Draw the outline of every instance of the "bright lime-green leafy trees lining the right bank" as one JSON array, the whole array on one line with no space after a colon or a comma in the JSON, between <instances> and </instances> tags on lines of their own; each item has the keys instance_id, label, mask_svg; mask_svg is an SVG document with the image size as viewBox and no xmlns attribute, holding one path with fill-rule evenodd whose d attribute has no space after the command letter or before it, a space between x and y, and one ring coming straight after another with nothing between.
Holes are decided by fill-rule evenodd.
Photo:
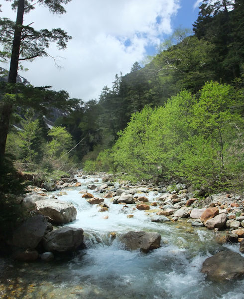
<instances>
[{"instance_id":1,"label":"bright lime-green leafy trees lining the right bank","mask_svg":"<svg viewBox=\"0 0 244 299\"><path fill-rule=\"evenodd\" d=\"M102 152L93 167L98 170L98 162L106 160L107 169L114 165L136 179L173 174L197 187L237 186L244 166L237 103L231 86L209 82L198 100L184 90L164 107L146 106L132 115L111 153Z\"/></svg>"}]
</instances>

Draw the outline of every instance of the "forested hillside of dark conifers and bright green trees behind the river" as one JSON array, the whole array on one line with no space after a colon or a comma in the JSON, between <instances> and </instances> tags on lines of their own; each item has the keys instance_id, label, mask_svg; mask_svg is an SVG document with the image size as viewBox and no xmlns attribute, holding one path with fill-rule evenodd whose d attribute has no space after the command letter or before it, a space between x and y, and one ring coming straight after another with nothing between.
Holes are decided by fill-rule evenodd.
<instances>
[{"instance_id":1,"label":"forested hillside of dark conifers and bright green trees behind the river","mask_svg":"<svg viewBox=\"0 0 244 299\"><path fill-rule=\"evenodd\" d=\"M193 31L175 30L145 65L116 74L98 101L18 85L15 109L28 113L12 117L7 153L30 171L66 172L82 162L86 170L126 172L132 180L240 187L243 30L242 0L204 0ZM1 84L2 96L13 97ZM42 117L46 103L68 111L52 129Z\"/></svg>"}]
</instances>

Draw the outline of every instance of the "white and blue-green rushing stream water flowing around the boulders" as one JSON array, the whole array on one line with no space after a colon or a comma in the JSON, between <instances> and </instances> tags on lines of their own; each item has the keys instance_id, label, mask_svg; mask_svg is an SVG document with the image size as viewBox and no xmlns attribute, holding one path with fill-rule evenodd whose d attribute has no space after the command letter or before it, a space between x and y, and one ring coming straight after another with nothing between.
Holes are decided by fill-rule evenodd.
<instances>
[{"instance_id":1,"label":"white and blue-green rushing stream water flowing around the boulders","mask_svg":"<svg viewBox=\"0 0 244 299\"><path fill-rule=\"evenodd\" d=\"M212 231L186 221L151 222L148 211L112 204L111 198L105 199L109 211L98 212L79 193L93 180L79 178L81 187L59 197L76 206L77 220L68 225L84 229L87 249L51 263L1 261L0 299L244 299L244 280L213 283L200 272L207 257L220 250L239 252L238 245L218 245ZM146 196L154 201L158 195L151 191ZM161 247L148 254L123 250L119 236L131 230L159 232Z\"/></svg>"}]
</instances>

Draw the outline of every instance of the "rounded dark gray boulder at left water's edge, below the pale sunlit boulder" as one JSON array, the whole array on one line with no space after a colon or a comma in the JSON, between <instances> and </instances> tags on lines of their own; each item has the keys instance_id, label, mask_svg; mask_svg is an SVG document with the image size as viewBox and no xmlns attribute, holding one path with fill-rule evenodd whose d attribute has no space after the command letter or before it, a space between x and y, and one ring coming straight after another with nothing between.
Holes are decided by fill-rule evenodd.
<instances>
[{"instance_id":1,"label":"rounded dark gray boulder at left water's edge, below the pale sunlit boulder","mask_svg":"<svg viewBox=\"0 0 244 299\"><path fill-rule=\"evenodd\" d=\"M47 233L43 238L43 247L51 252L74 251L83 243L83 239L82 228L66 226Z\"/></svg>"}]
</instances>

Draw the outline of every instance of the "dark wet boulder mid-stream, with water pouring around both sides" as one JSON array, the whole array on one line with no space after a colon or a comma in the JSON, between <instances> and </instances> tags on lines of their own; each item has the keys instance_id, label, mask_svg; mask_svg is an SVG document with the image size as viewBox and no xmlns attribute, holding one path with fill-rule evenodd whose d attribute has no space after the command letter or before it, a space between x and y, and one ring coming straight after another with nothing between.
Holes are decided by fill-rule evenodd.
<instances>
[{"instance_id":1,"label":"dark wet boulder mid-stream, with water pouring around both sides","mask_svg":"<svg viewBox=\"0 0 244 299\"><path fill-rule=\"evenodd\" d=\"M154 232L128 232L121 238L127 250L140 249L144 253L159 248L160 241L161 235Z\"/></svg>"}]
</instances>

